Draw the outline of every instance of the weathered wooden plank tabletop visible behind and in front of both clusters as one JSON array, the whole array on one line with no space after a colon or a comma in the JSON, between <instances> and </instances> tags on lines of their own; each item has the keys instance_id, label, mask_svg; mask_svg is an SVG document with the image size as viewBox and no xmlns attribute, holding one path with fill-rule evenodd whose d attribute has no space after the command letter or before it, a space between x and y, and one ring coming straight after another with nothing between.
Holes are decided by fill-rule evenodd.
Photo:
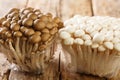
<instances>
[{"instance_id":1,"label":"weathered wooden plank tabletop visible behind and in front of both clusters","mask_svg":"<svg viewBox=\"0 0 120 80\"><path fill-rule=\"evenodd\" d=\"M27 0L0 0L0 7L4 7L0 8L0 16L3 16L4 13L12 7L25 7L26 2ZM38 8L44 13L51 12L54 16L61 17L63 21L69 19L75 14L83 16L107 15L120 17L120 0L29 0L27 7ZM0 58L3 58L3 56L0 55ZM4 60L6 60L6 58L0 59L0 73L4 73L8 69L8 65L2 66ZM45 74L51 74L47 79L44 75L36 76L12 70L9 75L9 80L14 80L15 78L17 78L17 80L28 80L28 78L29 80L106 80L104 78L90 75L67 72L65 69L66 66L64 66L67 61L65 61L64 55L61 55L61 58L59 59L59 52L56 53L56 58L54 61L55 65L53 66L52 64L51 68L48 70L48 73ZM5 62L4 64L6 63L8 64L8 62ZM61 69L59 70L58 68ZM8 74L4 76L4 80L7 80L7 75ZM51 77L53 75L56 76ZM110 80L120 80L119 76L120 74L118 74L116 78Z\"/></svg>"}]
</instances>

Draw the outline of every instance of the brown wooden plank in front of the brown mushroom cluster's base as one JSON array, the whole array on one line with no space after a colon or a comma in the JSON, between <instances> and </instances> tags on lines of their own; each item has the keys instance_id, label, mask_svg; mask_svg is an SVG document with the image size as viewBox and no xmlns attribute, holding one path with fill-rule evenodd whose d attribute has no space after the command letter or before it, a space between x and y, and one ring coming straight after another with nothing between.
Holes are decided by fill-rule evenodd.
<instances>
[{"instance_id":1,"label":"brown wooden plank in front of the brown mushroom cluster's base","mask_svg":"<svg viewBox=\"0 0 120 80\"><path fill-rule=\"evenodd\" d=\"M43 74L25 73L11 70L9 80L59 80L59 72L56 63L51 63Z\"/></svg>"}]
</instances>

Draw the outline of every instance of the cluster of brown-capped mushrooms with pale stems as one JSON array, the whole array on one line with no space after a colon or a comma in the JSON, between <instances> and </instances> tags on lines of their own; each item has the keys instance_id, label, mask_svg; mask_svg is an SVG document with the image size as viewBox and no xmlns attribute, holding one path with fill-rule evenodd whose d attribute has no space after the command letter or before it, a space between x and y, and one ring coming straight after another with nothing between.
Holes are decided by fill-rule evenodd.
<instances>
[{"instance_id":1,"label":"cluster of brown-capped mushrooms with pale stems","mask_svg":"<svg viewBox=\"0 0 120 80\"><path fill-rule=\"evenodd\" d=\"M53 18L51 13L43 14L39 9L31 7L13 8L0 19L0 43L2 47L13 53L8 54L12 56L11 60L15 59L15 63L23 67L23 64L27 65L29 62L25 62L25 59L36 58L37 53L39 53L37 56L43 55L41 52L47 54L46 49L51 46L61 27L63 23L60 18ZM35 56L31 56L32 54ZM48 56L50 55L47 54L47 58ZM32 64L33 70L38 68L34 65L35 62ZM29 67L31 67L30 64Z\"/></svg>"}]
</instances>

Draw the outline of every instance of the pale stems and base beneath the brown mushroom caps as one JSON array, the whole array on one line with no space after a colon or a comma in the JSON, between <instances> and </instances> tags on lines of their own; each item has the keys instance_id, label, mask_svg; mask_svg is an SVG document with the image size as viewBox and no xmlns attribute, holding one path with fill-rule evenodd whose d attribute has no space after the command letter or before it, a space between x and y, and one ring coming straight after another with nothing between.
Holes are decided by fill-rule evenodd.
<instances>
[{"instance_id":1,"label":"pale stems and base beneath the brown mushroom caps","mask_svg":"<svg viewBox=\"0 0 120 80\"><path fill-rule=\"evenodd\" d=\"M38 44L30 44L27 40L20 42L20 38L17 38L15 46L9 42L7 45L1 44L0 49L10 63L16 64L18 70L42 74L45 69L49 68L54 55L55 44L55 42L51 42L45 50L38 51Z\"/></svg>"}]
</instances>

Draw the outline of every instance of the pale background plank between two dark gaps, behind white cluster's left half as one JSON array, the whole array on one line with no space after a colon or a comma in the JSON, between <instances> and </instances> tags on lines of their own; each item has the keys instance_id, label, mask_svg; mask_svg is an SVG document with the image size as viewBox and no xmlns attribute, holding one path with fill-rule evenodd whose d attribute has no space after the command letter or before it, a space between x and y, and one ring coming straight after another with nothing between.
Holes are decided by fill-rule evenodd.
<instances>
[{"instance_id":1,"label":"pale background plank between two dark gaps, behind white cluster's left half","mask_svg":"<svg viewBox=\"0 0 120 80\"><path fill-rule=\"evenodd\" d=\"M92 15L91 0L60 0L62 19L66 20L75 14Z\"/></svg>"}]
</instances>

